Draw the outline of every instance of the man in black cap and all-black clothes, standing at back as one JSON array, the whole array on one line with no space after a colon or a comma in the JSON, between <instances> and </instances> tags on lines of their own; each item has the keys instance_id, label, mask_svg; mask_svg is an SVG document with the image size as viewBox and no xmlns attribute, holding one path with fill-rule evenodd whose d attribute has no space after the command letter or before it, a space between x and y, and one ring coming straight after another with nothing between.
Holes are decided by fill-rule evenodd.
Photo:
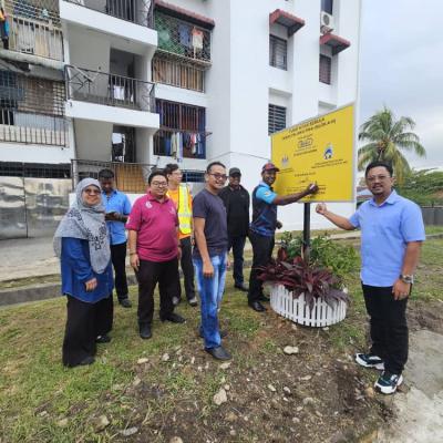
<instances>
[{"instance_id":1,"label":"man in black cap and all-black clothes, standing at back","mask_svg":"<svg viewBox=\"0 0 443 443\"><path fill-rule=\"evenodd\" d=\"M249 193L240 185L241 172L238 167L229 169L229 184L218 196L223 199L227 213L228 250L234 254L234 287L247 292L243 277L243 251L249 230Z\"/></svg>"}]
</instances>

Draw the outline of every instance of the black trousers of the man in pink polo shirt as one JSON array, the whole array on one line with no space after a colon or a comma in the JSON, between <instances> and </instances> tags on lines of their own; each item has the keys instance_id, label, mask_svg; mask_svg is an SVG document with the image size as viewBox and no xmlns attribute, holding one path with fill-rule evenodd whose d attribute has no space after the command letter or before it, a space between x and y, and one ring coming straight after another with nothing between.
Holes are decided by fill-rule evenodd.
<instances>
[{"instance_id":1,"label":"black trousers of the man in pink polo shirt","mask_svg":"<svg viewBox=\"0 0 443 443\"><path fill-rule=\"evenodd\" d=\"M154 316L154 290L158 282L159 318L165 319L174 310L173 297L177 290L178 260L140 260L136 272L138 280L138 324L151 324Z\"/></svg>"}]
</instances>

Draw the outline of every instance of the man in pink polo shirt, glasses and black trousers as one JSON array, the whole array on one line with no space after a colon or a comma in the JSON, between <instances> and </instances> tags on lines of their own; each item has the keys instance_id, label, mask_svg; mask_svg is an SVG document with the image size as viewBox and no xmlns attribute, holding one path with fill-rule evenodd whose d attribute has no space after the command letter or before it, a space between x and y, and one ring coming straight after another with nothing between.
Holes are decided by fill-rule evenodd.
<instances>
[{"instance_id":1,"label":"man in pink polo shirt, glasses and black trousers","mask_svg":"<svg viewBox=\"0 0 443 443\"><path fill-rule=\"evenodd\" d=\"M166 196L167 178L155 171L147 179L148 192L135 200L126 224L131 266L138 280L138 328L142 339L152 337L154 289L158 282L159 318L183 323L174 313L173 297L177 296L178 217L174 202Z\"/></svg>"}]
</instances>

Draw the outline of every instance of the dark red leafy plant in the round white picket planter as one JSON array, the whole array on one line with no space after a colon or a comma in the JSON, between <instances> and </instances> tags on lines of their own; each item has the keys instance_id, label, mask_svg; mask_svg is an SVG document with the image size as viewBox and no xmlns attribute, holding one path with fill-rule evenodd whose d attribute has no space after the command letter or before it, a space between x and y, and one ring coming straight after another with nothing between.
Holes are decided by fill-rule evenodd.
<instances>
[{"instance_id":1,"label":"dark red leafy plant in the round white picket planter","mask_svg":"<svg viewBox=\"0 0 443 443\"><path fill-rule=\"evenodd\" d=\"M340 300L349 303L348 295L340 289L340 279L329 269L309 265L301 257L288 260L282 248L278 250L277 260L257 269L261 281L285 286L293 298L305 295L305 301L311 310L316 299L327 302L331 308Z\"/></svg>"}]
</instances>

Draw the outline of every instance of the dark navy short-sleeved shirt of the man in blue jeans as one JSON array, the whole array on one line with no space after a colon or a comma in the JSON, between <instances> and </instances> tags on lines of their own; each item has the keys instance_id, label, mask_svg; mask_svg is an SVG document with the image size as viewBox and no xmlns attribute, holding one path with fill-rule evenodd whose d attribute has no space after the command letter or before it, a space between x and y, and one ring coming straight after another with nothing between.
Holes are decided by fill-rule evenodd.
<instances>
[{"instance_id":1,"label":"dark navy short-sleeved shirt of the man in blue jeans","mask_svg":"<svg viewBox=\"0 0 443 443\"><path fill-rule=\"evenodd\" d=\"M226 208L218 195L203 189L194 197L193 216L205 219L205 238L209 257L225 254L228 249ZM194 257L200 257L197 245Z\"/></svg>"}]
</instances>

